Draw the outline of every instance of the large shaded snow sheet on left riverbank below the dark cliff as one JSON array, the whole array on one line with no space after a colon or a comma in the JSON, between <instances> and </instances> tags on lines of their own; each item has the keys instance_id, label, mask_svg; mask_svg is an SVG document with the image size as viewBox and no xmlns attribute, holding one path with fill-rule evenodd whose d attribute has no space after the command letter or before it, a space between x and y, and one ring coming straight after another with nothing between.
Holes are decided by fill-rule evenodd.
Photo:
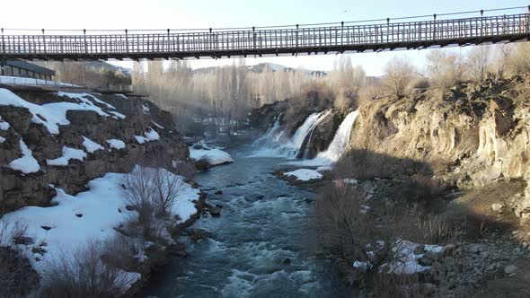
<instances>
[{"instance_id":1,"label":"large shaded snow sheet on left riverbank below the dark cliff","mask_svg":"<svg viewBox=\"0 0 530 298\"><path fill-rule=\"evenodd\" d=\"M138 167L134 171L138 171ZM162 170L164 174L173 175ZM42 249L46 253L32 252L34 245L19 245L28 256L31 266L42 275L53 259L73 255L83 248L87 241L109 241L117 235L114 230L120 223L127 222L135 211L128 211L127 199L124 197L121 183L130 174L107 173L102 178L88 182L88 191L70 196L60 188L56 188L57 196L52 199L57 206L39 207L26 206L8 213L0 220L0 231L11 234L14 223L27 224L25 236L31 237L34 243L46 242ZM174 215L185 221L197 213L193 200L199 199L199 189L191 188L181 181L179 197L172 206ZM79 216L81 215L81 216ZM49 227L47 231L42 227ZM10 245L4 239L0 245ZM41 259L37 261L36 258ZM123 272L127 280L136 281L140 276L134 272ZM131 283L132 283L131 282Z\"/></svg>"}]
</instances>

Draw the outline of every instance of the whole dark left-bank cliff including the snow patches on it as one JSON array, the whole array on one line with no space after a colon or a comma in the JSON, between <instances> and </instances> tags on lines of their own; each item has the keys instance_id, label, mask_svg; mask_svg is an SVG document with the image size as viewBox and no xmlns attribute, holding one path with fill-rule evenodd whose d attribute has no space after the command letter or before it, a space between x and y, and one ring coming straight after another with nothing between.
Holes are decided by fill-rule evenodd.
<instances>
[{"instance_id":1,"label":"whole dark left-bank cliff including the snow patches on it","mask_svg":"<svg viewBox=\"0 0 530 298\"><path fill-rule=\"evenodd\" d=\"M136 163L171 168L189 158L171 115L121 94L0 89L0 214L48 206Z\"/></svg>"}]
</instances>

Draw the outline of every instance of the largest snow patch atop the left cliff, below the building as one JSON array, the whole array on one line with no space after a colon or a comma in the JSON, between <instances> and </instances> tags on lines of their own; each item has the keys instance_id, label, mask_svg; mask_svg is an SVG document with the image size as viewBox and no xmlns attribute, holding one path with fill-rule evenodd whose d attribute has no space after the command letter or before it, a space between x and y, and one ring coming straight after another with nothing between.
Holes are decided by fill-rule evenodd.
<instances>
[{"instance_id":1,"label":"largest snow patch atop the left cliff, below the building","mask_svg":"<svg viewBox=\"0 0 530 298\"><path fill-rule=\"evenodd\" d=\"M63 95L64 94L66 93L63 93ZM49 133L53 135L57 135L59 133L59 125L70 124L70 121L66 119L66 112L68 110L94 111L98 113L98 115L103 117L110 116L109 114L103 112L102 108L95 106L92 101L85 99L83 96L75 96L73 98L77 99L80 102L52 102L43 105L38 105L28 101L24 101L22 100L22 98L20 98L13 92L4 88L0 88L0 105L27 108L33 115L31 121L44 125L46 128L48 128Z\"/></svg>"}]
</instances>

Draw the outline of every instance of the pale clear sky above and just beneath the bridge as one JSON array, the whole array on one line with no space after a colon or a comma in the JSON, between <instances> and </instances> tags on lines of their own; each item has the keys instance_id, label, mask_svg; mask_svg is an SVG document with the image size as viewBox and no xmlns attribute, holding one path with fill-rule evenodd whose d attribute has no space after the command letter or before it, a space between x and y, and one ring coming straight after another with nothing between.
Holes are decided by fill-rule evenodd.
<instances>
[{"instance_id":1,"label":"pale clear sky above and just beneath the bridge","mask_svg":"<svg viewBox=\"0 0 530 298\"><path fill-rule=\"evenodd\" d=\"M530 0L2 0L0 27L13 29L181 29L252 27L267 25L341 22L432 13L526 6ZM23 12L23 13L22 13ZM526 10L508 11L521 13ZM490 13L491 14L491 13ZM23 15L23 17L21 17ZM479 13L473 14L478 16ZM7 34L9 31L5 31ZM465 51L466 48L453 48ZM382 53L342 54L369 75L380 75L396 56L406 56L422 66L429 49ZM331 70L336 55L247 58L247 65L272 62L311 70ZM110 61L112 62L112 61ZM131 62L112 62L120 66ZM192 68L223 66L233 59L191 60Z\"/></svg>"}]
</instances>

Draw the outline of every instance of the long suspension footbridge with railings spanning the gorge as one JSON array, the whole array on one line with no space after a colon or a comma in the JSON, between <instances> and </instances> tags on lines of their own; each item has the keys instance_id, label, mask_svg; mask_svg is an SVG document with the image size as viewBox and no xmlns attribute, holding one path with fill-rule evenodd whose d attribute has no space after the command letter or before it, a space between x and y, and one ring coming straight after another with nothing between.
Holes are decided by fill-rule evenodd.
<instances>
[{"instance_id":1,"label":"long suspension footbridge with railings spanning the gorge","mask_svg":"<svg viewBox=\"0 0 530 298\"><path fill-rule=\"evenodd\" d=\"M530 12L530 6L528 7ZM370 24L296 25L245 30L149 31L93 35L2 35L0 57L98 60L247 57L430 48L530 40L530 13Z\"/></svg>"}]
</instances>

